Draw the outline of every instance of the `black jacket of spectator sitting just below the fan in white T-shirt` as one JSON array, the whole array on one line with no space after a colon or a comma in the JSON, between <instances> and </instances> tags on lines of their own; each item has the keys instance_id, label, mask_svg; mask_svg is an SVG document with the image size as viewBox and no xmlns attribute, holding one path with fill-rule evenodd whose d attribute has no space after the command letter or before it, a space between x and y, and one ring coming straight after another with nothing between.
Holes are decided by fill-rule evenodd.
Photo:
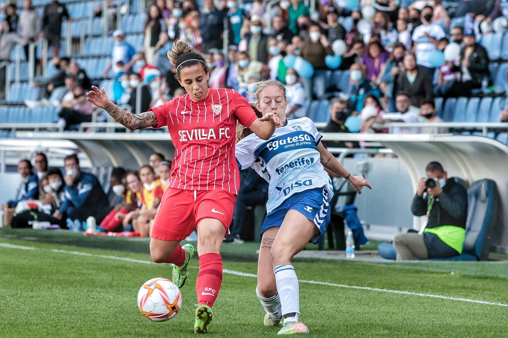
<instances>
[{"instance_id":1,"label":"black jacket of spectator sitting just below the fan in white T-shirt","mask_svg":"<svg viewBox=\"0 0 508 338\"><path fill-rule=\"evenodd\" d=\"M411 99L411 104L420 107L424 99L431 100L432 94L432 79L429 73L421 66L417 66L418 73L415 82L412 84L407 80L406 72L399 72L397 74L397 92L405 92Z\"/></svg>"}]
</instances>

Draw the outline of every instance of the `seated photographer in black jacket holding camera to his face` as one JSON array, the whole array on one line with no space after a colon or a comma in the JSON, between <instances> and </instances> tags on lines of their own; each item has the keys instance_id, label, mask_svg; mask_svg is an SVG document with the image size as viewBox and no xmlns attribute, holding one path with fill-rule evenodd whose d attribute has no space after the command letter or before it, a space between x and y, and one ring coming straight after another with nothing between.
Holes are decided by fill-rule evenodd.
<instances>
[{"instance_id":1,"label":"seated photographer in black jacket holding camera to his face","mask_svg":"<svg viewBox=\"0 0 508 338\"><path fill-rule=\"evenodd\" d=\"M439 162L430 162L411 205L415 216L426 215L420 233L399 234L393 244L397 260L447 258L462 253L466 235L467 192ZM425 194L426 193L426 194Z\"/></svg>"}]
</instances>

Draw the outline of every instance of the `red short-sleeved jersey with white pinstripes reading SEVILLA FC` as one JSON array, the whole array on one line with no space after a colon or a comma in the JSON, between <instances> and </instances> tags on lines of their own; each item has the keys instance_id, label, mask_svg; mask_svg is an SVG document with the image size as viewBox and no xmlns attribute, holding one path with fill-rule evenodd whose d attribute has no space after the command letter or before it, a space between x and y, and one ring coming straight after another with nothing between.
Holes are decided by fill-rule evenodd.
<instances>
[{"instance_id":1,"label":"red short-sleeved jersey with white pinstripes reading SEVILLA FC","mask_svg":"<svg viewBox=\"0 0 508 338\"><path fill-rule=\"evenodd\" d=\"M233 89L210 89L201 102L185 94L150 110L157 118L156 128L168 126L176 148L169 187L238 195L236 122L248 127L257 119L243 96Z\"/></svg>"}]
</instances>

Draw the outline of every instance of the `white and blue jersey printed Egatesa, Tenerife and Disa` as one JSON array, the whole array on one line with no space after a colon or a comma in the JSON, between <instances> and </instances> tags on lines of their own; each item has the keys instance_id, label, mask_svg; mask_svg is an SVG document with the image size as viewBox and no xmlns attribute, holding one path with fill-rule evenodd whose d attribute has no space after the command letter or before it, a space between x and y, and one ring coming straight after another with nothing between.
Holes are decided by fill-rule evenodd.
<instances>
[{"instance_id":1,"label":"white and blue jersey printed Egatesa, Tenerife and Disa","mask_svg":"<svg viewBox=\"0 0 508 338\"><path fill-rule=\"evenodd\" d=\"M309 118L288 121L268 140L250 134L236 144L240 169L252 167L268 181L267 211L295 193L326 186L333 194L330 176L323 168L316 144L321 140Z\"/></svg>"}]
</instances>

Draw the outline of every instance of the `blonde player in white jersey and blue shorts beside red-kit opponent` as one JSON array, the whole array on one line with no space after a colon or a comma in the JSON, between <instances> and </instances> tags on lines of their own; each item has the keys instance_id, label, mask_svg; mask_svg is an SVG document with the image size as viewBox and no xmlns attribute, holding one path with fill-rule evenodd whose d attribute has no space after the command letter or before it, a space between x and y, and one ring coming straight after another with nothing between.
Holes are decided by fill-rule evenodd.
<instances>
[{"instance_id":1,"label":"blonde player in white jersey and blue shorts beside red-kit opponent","mask_svg":"<svg viewBox=\"0 0 508 338\"><path fill-rule=\"evenodd\" d=\"M359 194L361 186L372 188L327 151L309 118L287 121L288 101L280 82L268 80L257 85L255 107L262 115L276 115L281 125L268 141L250 134L238 141L235 150L240 169L251 166L270 183L256 293L266 311L265 325L278 326L284 317L278 334L308 333L298 319L299 286L291 259L309 241L317 243L330 221L333 187L324 167L349 180ZM248 133L243 129L238 138Z\"/></svg>"}]
</instances>

